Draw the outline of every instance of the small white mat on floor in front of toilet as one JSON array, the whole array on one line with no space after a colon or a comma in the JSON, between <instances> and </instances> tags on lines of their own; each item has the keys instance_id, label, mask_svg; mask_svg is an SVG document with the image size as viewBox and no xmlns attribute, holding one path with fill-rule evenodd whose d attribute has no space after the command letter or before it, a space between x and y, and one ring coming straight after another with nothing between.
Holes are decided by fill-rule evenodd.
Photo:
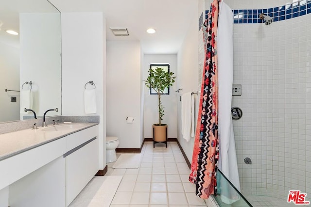
<instances>
[{"instance_id":1,"label":"small white mat on floor in front of toilet","mask_svg":"<svg viewBox=\"0 0 311 207\"><path fill-rule=\"evenodd\" d=\"M112 168L138 168L140 154L121 154Z\"/></svg>"}]
</instances>

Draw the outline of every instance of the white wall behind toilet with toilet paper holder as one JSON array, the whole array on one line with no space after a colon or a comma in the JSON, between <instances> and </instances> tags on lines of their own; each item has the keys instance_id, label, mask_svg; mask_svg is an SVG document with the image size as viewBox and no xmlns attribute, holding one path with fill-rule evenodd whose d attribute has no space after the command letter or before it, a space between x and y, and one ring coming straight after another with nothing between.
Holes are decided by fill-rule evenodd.
<instances>
[{"instance_id":1,"label":"white wall behind toilet with toilet paper holder","mask_svg":"<svg viewBox=\"0 0 311 207\"><path fill-rule=\"evenodd\" d=\"M138 41L107 42L107 136L119 138L118 148L141 145L140 73ZM127 124L128 116L133 124Z\"/></svg>"}]
</instances>

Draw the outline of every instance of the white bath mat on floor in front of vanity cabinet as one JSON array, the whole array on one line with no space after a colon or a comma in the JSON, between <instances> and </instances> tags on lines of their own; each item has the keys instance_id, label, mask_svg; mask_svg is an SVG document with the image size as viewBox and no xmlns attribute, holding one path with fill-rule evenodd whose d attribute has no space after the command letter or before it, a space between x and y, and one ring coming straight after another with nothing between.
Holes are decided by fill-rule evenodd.
<instances>
[{"instance_id":1,"label":"white bath mat on floor in front of vanity cabinet","mask_svg":"<svg viewBox=\"0 0 311 207\"><path fill-rule=\"evenodd\" d=\"M121 175L94 177L69 207L109 207L121 179Z\"/></svg>"}]
</instances>

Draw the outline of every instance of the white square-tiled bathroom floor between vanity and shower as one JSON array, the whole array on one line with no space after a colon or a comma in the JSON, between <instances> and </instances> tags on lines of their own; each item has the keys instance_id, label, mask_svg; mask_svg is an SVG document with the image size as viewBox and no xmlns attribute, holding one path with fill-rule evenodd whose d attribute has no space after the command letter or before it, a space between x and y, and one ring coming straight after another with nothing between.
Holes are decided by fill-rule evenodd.
<instances>
[{"instance_id":1,"label":"white square-tiled bathroom floor between vanity and shower","mask_svg":"<svg viewBox=\"0 0 311 207\"><path fill-rule=\"evenodd\" d=\"M120 156L120 153L117 153ZM145 142L138 169L113 169L109 175L123 175L110 207L202 207L195 187L188 181L190 170L175 142Z\"/></svg>"}]
</instances>

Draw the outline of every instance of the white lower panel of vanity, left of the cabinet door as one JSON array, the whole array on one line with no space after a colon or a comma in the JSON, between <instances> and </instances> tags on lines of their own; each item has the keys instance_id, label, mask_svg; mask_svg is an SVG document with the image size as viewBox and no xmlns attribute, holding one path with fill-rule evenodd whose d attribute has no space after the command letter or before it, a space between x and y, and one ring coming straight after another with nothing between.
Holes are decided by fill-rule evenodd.
<instances>
[{"instance_id":1,"label":"white lower panel of vanity, left of the cabinet door","mask_svg":"<svg viewBox=\"0 0 311 207\"><path fill-rule=\"evenodd\" d=\"M64 185L65 160L61 156L12 183L9 186L9 206L62 207L65 203Z\"/></svg>"}]
</instances>

